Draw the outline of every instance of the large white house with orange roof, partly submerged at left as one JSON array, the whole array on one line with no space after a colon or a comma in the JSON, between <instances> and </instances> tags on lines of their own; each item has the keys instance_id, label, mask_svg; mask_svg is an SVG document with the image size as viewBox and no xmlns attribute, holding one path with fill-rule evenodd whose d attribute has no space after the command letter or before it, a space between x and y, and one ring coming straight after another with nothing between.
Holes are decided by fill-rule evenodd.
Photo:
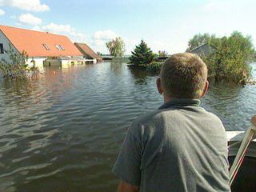
<instances>
[{"instance_id":1,"label":"large white house with orange roof, partly submerged at left","mask_svg":"<svg viewBox=\"0 0 256 192\"><path fill-rule=\"evenodd\" d=\"M25 51L27 64L38 67L86 62L82 53L64 35L0 26L0 60L10 61L10 55L6 53L10 48L15 54Z\"/></svg>"}]
</instances>

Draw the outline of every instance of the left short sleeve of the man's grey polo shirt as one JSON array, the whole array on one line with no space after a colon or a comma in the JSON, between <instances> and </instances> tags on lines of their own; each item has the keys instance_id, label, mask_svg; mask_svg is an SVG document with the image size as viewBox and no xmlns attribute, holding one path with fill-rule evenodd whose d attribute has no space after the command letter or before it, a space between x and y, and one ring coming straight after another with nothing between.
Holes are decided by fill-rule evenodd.
<instances>
[{"instance_id":1,"label":"left short sleeve of the man's grey polo shirt","mask_svg":"<svg viewBox=\"0 0 256 192\"><path fill-rule=\"evenodd\" d=\"M139 186L141 180L141 139L131 133L131 128L134 127L130 127L126 134L112 172L130 185Z\"/></svg>"}]
</instances>

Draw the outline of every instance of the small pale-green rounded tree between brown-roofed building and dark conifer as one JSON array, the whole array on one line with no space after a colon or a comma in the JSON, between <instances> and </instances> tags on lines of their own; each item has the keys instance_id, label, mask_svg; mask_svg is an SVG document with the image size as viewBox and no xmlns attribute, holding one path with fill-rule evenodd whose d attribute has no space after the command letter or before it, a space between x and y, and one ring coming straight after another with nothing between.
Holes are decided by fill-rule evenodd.
<instances>
[{"instance_id":1,"label":"small pale-green rounded tree between brown-roofed building and dark conifer","mask_svg":"<svg viewBox=\"0 0 256 192\"><path fill-rule=\"evenodd\" d=\"M126 52L125 43L120 37L106 42L106 48L110 51L110 55L114 57L122 57Z\"/></svg>"}]
</instances>

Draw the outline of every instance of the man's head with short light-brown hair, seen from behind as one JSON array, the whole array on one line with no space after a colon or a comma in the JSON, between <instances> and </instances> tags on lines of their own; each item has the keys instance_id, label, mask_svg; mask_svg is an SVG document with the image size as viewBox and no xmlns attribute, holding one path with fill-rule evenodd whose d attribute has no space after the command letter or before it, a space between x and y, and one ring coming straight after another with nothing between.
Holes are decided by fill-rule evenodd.
<instances>
[{"instance_id":1,"label":"man's head with short light-brown hair, seen from behind","mask_svg":"<svg viewBox=\"0 0 256 192\"><path fill-rule=\"evenodd\" d=\"M174 54L163 63L157 85L165 98L201 98L209 85L207 66L196 54Z\"/></svg>"}]
</instances>

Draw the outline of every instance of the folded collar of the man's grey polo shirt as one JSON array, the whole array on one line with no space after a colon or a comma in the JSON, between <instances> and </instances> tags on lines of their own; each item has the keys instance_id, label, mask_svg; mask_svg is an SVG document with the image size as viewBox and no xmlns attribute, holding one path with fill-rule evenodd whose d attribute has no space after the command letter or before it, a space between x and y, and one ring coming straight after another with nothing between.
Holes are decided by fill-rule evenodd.
<instances>
[{"instance_id":1,"label":"folded collar of the man's grey polo shirt","mask_svg":"<svg viewBox=\"0 0 256 192\"><path fill-rule=\"evenodd\" d=\"M158 110L163 110L166 108L170 108L173 106L200 106L201 102L199 99L192 98L175 98L170 102L164 103L162 106L158 108Z\"/></svg>"}]
</instances>

